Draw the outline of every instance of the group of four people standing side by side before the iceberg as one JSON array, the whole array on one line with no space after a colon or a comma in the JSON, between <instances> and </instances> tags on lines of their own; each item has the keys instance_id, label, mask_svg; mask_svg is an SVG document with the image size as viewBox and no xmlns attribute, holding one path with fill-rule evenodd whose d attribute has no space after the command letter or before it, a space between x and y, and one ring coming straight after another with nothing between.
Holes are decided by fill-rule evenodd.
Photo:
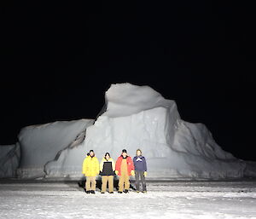
<instances>
[{"instance_id":1,"label":"group of four people standing side by side before the iceberg","mask_svg":"<svg viewBox=\"0 0 256 219\"><path fill-rule=\"evenodd\" d=\"M140 149L137 149L136 156L131 159L126 149L122 150L119 158L114 162L109 153L102 158L101 163L95 156L93 150L87 154L83 162L83 174L86 176L85 191L86 193L95 193L96 176L102 176L102 191L106 193L107 183L108 192L113 193L113 176L119 176L118 193L128 193L130 188L130 176L135 176L136 190L140 192L140 180L143 185L143 193L147 192L146 180L147 163L146 158Z\"/></svg>"}]
</instances>

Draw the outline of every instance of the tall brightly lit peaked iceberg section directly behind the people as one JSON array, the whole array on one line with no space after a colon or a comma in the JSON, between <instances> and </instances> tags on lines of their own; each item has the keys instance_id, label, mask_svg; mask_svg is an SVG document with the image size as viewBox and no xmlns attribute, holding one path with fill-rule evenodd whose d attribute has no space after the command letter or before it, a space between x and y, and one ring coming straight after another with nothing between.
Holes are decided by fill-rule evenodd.
<instances>
[{"instance_id":1,"label":"tall brightly lit peaked iceberg section directly behind the people","mask_svg":"<svg viewBox=\"0 0 256 219\"><path fill-rule=\"evenodd\" d=\"M143 150L149 178L243 176L244 162L224 152L204 124L183 121L175 101L166 100L154 89L112 84L105 99L105 112L87 128L84 142L49 162L47 176L63 176L65 170L65 176L79 177L79 166L90 149L98 158L109 152L116 159L123 148L131 156L137 148Z\"/></svg>"}]
</instances>

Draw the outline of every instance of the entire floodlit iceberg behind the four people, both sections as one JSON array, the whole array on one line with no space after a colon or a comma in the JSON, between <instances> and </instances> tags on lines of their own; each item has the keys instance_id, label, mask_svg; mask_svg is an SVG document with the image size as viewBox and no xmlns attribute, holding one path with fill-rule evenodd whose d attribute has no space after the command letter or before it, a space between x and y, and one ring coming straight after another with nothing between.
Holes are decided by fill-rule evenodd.
<instances>
[{"instance_id":1,"label":"entire floodlit iceberg behind the four people, both sections","mask_svg":"<svg viewBox=\"0 0 256 219\"><path fill-rule=\"evenodd\" d=\"M225 152L204 124L183 121L175 101L154 89L112 84L105 99L96 121L80 119L22 129L18 176L81 178L90 149L99 159L106 152L117 159L124 148L131 157L137 148L143 151L152 179L222 179L246 176L246 172L256 176L254 163L247 165Z\"/></svg>"}]
</instances>

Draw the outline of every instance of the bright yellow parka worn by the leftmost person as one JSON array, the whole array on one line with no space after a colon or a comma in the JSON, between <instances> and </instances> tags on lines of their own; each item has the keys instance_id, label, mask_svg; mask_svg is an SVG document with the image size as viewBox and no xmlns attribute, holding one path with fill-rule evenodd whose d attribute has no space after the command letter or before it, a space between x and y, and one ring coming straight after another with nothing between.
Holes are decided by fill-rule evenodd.
<instances>
[{"instance_id":1,"label":"bright yellow parka worn by the leftmost person","mask_svg":"<svg viewBox=\"0 0 256 219\"><path fill-rule=\"evenodd\" d=\"M83 162L83 174L85 176L97 176L100 173L100 164L96 157L87 156Z\"/></svg>"}]
</instances>

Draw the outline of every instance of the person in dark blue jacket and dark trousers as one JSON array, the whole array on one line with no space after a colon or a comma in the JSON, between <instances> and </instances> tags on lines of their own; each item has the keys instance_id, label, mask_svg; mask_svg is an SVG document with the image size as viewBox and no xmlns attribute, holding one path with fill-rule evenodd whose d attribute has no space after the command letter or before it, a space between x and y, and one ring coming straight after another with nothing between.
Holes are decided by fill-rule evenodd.
<instances>
[{"instance_id":1,"label":"person in dark blue jacket and dark trousers","mask_svg":"<svg viewBox=\"0 0 256 219\"><path fill-rule=\"evenodd\" d=\"M136 156L133 158L133 164L135 168L135 184L137 193L140 192L140 178L143 184L143 193L147 193L146 179L147 176L147 162L143 157L143 153L140 149L137 149Z\"/></svg>"}]
</instances>

